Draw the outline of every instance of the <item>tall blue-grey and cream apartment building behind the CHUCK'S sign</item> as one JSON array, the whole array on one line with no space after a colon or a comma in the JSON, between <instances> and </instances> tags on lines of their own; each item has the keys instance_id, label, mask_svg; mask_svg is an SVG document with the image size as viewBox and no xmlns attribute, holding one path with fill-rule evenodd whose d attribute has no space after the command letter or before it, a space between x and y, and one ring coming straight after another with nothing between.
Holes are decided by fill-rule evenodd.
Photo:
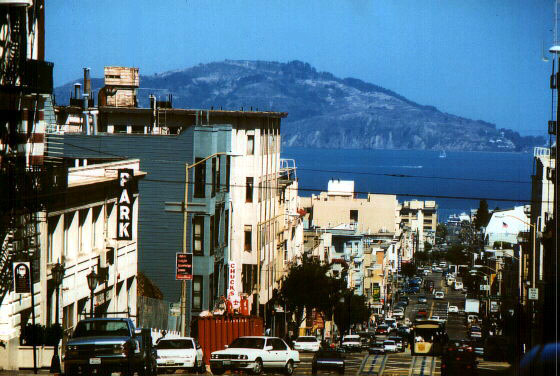
<instances>
[{"instance_id":1,"label":"tall blue-grey and cream apartment building behind the CHUCK'S sign","mask_svg":"<svg viewBox=\"0 0 560 376\"><path fill-rule=\"evenodd\" d=\"M182 249L183 219L164 208L173 202L181 207L185 164L196 164L188 168L192 311L212 310L230 293L266 303L286 260L303 240L295 163L280 158L280 122L287 114L177 109L171 98L153 96L150 108L136 107L134 98L111 102L103 95L116 88L124 98L136 95L134 72L115 81L118 71L106 69L99 106L57 107L65 155L123 155L142 161L150 178L140 182L146 199L139 218L139 265L171 301L180 296L174 268L175 253ZM257 307L262 312L256 304L254 311Z\"/></svg>"}]
</instances>

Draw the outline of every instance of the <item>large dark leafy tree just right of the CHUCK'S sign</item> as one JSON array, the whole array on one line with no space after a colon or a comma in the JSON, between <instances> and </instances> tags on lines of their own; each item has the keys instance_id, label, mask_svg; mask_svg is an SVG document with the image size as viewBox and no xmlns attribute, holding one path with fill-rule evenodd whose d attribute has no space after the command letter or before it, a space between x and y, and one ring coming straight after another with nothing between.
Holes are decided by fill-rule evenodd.
<instances>
[{"instance_id":1,"label":"large dark leafy tree just right of the CHUCK'S sign","mask_svg":"<svg viewBox=\"0 0 560 376\"><path fill-rule=\"evenodd\" d=\"M295 314L298 326L305 319L305 313L311 314L313 309L323 318L332 315L344 281L329 276L328 271L329 265L308 255L303 256L301 264L290 268L280 288L280 296L289 311Z\"/></svg>"}]
</instances>

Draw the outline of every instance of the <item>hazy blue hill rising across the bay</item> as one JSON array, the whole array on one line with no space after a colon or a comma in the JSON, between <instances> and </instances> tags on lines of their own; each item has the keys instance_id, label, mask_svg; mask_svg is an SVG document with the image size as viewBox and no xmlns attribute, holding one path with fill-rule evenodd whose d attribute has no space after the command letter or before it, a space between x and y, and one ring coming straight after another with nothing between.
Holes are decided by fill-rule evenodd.
<instances>
[{"instance_id":1,"label":"hazy blue hill rising across the bay","mask_svg":"<svg viewBox=\"0 0 560 376\"><path fill-rule=\"evenodd\" d=\"M92 80L94 89L102 84ZM285 146L524 151L545 142L414 103L355 78L317 72L300 61L226 60L141 76L140 85L141 106L155 93L173 94L173 107L288 112L282 123ZM72 83L56 88L57 103L67 104L71 90Z\"/></svg>"}]
</instances>

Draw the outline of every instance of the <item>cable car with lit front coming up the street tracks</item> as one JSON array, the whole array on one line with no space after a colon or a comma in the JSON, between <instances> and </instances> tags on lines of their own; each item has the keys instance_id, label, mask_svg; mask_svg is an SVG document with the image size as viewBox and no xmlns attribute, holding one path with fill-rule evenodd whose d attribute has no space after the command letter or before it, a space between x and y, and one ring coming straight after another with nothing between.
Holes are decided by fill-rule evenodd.
<instances>
[{"instance_id":1,"label":"cable car with lit front coming up the street tracks","mask_svg":"<svg viewBox=\"0 0 560 376\"><path fill-rule=\"evenodd\" d=\"M436 320L415 321L412 327L412 355L441 356L448 337L445 325Z\"/></svg>"}]
</instances>

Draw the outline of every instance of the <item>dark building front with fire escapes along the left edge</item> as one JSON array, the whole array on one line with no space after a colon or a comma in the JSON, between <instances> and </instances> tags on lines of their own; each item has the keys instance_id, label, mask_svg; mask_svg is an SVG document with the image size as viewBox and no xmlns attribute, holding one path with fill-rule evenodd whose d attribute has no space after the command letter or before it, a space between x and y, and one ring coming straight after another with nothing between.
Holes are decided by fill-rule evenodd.
<instances>
[{"instance_id":1,"label":"dark building front with fire escapes along the left edge","mask_svg":"<svg viewBox=\"0 0 560 376\"><path fill-rule=\"evenodd\" d=\"M0 304L12 290L13 261L30 261L38 281L39 213L66 184L61 167L43 163L46 130L37 129L52 111L53 64L42 52L30 58L44 45L36 30L43 6L0 1Z\"/></svg>"}]
</instances>

